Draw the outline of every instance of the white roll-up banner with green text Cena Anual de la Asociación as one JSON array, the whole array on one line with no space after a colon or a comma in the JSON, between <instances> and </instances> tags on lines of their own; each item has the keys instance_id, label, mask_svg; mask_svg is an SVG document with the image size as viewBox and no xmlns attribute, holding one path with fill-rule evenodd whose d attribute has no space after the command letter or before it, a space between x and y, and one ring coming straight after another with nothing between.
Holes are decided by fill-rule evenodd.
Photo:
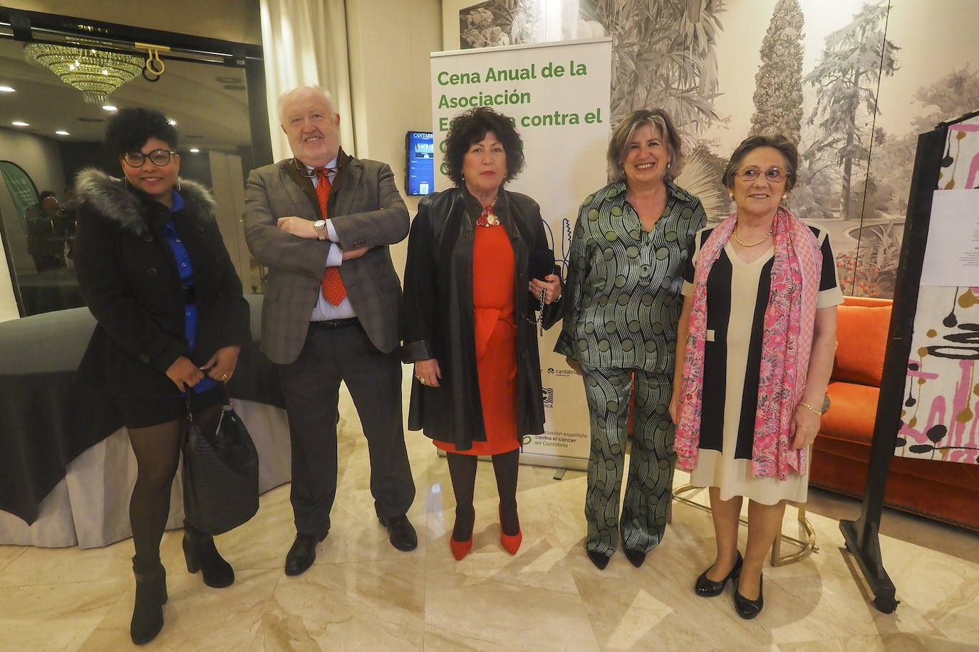
<instances>
[{"instance_id":1,"label":"white roll-up banner with green text Cena Anual de la Asociaci\u00f3n","mask_svg":"<svg viewBox=\"0 0 979 652\"><path fill-rule=\"evenodd\" d=\"M585 196L607 183L612 39L432 53L435 146L444 153L452 116L487 106L513 120L526 166L508 190L533 197L562 270ZM436 157L441 161L441 156ZM451 187L443 167L435 187ZM546 422L524 438L522 461L584 468L590 449L582 377L553 352L560 323L539 340Z\"/></svg>"}]
</instances>

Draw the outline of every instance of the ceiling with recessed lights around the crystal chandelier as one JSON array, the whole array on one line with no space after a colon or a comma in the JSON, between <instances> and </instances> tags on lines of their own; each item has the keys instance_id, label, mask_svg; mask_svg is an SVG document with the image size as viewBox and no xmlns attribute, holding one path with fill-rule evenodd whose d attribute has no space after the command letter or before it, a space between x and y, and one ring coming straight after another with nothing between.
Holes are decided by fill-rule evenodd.
<instances>
[{"instance_id":1,"label":"ceiling with recessed lights around the crystal chandelier","mask_svg":"<svg viewBox=\"0 0 979 652\"><path fill-rule=\"evenodd\" d=\"M110 113L82 100L81 92L53 72L29 65L23 42L0 38L0 128L20 129L52 140L101 142ZM245 69L228 65L167 60L156 82L141 76L120 86L107 104L118 109L157 109L177 122L180 149L237 152L252 145ZM28 127L11 123L21 120ZM96 120L96 121L89 121ZM69 136L58 136L58 130Z\"/></svg>"}]
</instances>

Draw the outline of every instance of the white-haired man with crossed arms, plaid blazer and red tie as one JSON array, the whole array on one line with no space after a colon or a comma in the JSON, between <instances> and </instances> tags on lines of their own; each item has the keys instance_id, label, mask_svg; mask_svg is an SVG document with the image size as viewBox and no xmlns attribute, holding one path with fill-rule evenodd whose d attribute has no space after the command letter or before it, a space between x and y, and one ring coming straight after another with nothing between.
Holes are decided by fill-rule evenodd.
<instances>
[{"instance_id":1,"label":"white-haired man with crossed arms, plaid blazer and red tie","mask_svg":"<svg viewBox=\"0 0 979 652\"><path fill-rule=\"evenodd\" d=\"M261 350L277 365L289 413L297 535L286 574L299 575L330 529L341 380L367 437L378 519L396 548L418 543L405 515L415 487L401 420L401 286L388 248L407 236L408 211L391 167L340 149L328 93L294 89L279 117L294 157L252 171L244 221L268 268ZM339 270L339 294L335 272L324 280L329 268Z\"/></svg>"}]
</instances>

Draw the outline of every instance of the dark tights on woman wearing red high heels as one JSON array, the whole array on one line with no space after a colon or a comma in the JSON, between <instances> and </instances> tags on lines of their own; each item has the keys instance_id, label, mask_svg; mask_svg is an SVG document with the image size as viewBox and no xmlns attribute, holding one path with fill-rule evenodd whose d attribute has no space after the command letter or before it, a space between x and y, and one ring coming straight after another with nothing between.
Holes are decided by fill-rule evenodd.
<instances>
[{"instance_id":1,"label":"dark tights on woman wearing red high heels","mask_svg":"<svg viewBox=\"0 0 979 652\"><path fill-rule=\"evenodd\" d=\"M473 494L476 491L477 456L448 453L448 474L452 478L455 494L455 527L452 539L468 541L473 536L476 510ZM520 466L520 449L492 456L492 470L496 475L496 492L499 494L499 519L503 534L516 536L520 532L517 516L517 470Z\"/></svg>"}]
</instances>

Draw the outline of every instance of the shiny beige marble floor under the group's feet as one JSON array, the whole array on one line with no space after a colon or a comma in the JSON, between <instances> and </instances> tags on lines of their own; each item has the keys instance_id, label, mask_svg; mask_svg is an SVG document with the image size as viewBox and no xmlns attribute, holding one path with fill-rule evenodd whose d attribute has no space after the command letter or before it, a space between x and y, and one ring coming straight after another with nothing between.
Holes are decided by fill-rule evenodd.
<instances>
[{"instance_id":1,"label":"shiny beige marble floor under the group's feet","mask_svg":"<svg viewBox=\"0 0 979 652\"><path fill-rule=\"evenodd\" d=\"M859 503L814 491L818 550L767 569L765 610L743 621L730 587L716 598L692 591L713 550L710 514L695 507L675 504L664 542L640 569L622 554L604 571L592 566L583 552L582 471L554 480L554 469L521 468L524 543L510 556L499 544L492 468L481 462L475 542L456 562L448 471L419 433L407 434L419 544L398 552L373 515L366 445L349 402L341 426L333 527L313 567L296 578L282 571L294 536L288 485L262 496L251 522L217 538L235 568L231 587L189 575L181 531L168 532L165 624L146 649L979 649L979 535L885 513L880 543L901 604L882 614L837 523L856 518ZM676 484L684 480L677 473ZM787 511L785 531L798 536ZM132 647L131 556L130 540L88 550L0 546L0 650Z\"/></svg>"}]
</instances>

